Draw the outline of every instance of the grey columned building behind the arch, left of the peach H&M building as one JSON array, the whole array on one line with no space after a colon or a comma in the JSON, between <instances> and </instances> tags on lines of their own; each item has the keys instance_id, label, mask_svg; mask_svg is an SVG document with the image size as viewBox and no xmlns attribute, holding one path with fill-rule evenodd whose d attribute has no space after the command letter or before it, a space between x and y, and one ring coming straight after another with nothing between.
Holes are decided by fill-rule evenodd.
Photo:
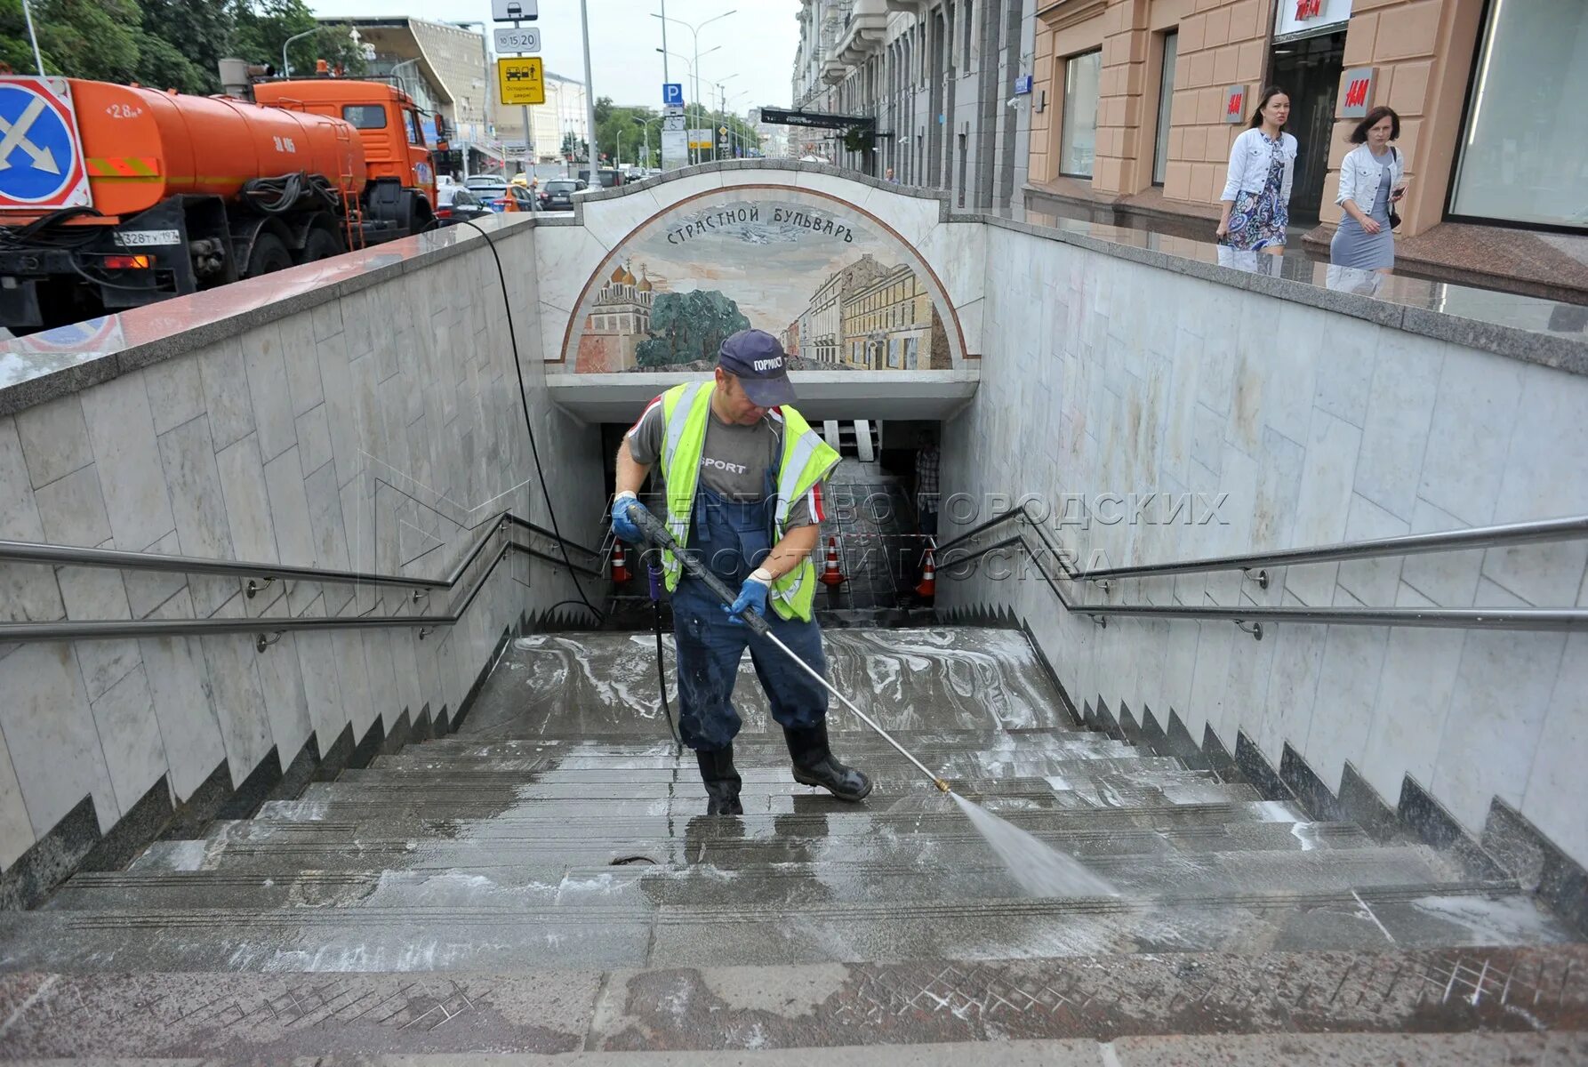
<instances>
[{"instance_id":1,"label":"grey columned building behind the arch, left of the peach H&M building","mask_svg":"<svg viewBox=\"0 0 1588 1067\"><path fill-rule=\"evenodd\" d=\"M791 129L791 156L1002 208L1026 183L1035 0L804 0L796 110L870 117L875 138Z\"/></svg>"}]
</instances>

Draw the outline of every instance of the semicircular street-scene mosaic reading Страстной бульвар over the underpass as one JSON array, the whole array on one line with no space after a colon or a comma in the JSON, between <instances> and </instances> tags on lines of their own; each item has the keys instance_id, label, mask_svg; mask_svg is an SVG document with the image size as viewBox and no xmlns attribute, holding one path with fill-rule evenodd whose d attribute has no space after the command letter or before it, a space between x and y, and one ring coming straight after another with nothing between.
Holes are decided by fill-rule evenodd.
<instances>
[{"instance_id":1,"label":"semicircular street-scene mosaic reading \u0421\u0442\u0440\u0430\u0441\u0442\u043d\u043e\u0439 \u0431\u0443\u043b\u044c\u0432\u0430\u0440 over the underpass","mask_svg":"<svg viewBox=\"0 0 1588 1067\"><path fill-rule=\"evenodd\" d=\"M810 189L713 189L651 216L586 281L562 345L578 373L708 370L724 337L777 335L791 370L953 370L964 337L897 232Z\"/></svg>"}]
</instances>

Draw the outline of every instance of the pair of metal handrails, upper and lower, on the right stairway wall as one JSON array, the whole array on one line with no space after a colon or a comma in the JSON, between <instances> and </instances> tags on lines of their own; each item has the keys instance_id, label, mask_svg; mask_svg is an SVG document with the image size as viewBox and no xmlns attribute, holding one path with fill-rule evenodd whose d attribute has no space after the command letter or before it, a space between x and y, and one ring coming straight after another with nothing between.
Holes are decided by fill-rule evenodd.
<instances>
[{"instance_id":1,"label":"pair of metal handrails, upper and lower, on the right stairway wall","mask_svg":"<svg viewBox=\"0 0 1588 1067\"><path fill-rule=\"evenodd\" d=\"M983 545L983 537L996 527L1015 524L1016 532ZM1159 578L1174 575L1240 570L1269 584L1269 567L1374 559L1439 551L1464 551L1475 548L1512 548L1547 541L1588 540L1588 516L1542 519L1536 522L1509 522L1504 526L1474 527L1469 530L1442 530L1436 534L1412 534L1383 537L1339 545L1318 545L1272 553L1248 553L1243 556L1212 556L1204 559L1175 560L1169 564L1139 564L1131 567L1102 567L1078 570L1073 559L1053 541L1042 521L1031 513L1029 502L986 519L972 529L943 541L937 549L939 578L964 578L964 568L991 553L1021 546L1031 551L1026 532L1032 532L1042 545L1042 553L1032 553L1035 572L1043 578L1059 603L1067 611L1089 616L1100 626L1110 618L1159 618L1159 619L1212 619L1228 621L1262 640L1262 622L1310 622L1329 626L1420 626L1493 630L1588 630L1588 611L1580 608L1286 608L1286 607L1185 607L1185 605L1126 605L1091 603L1067 595L1059 583L1086 587L1096 583L1107 592L1110 583L1123 578ZM973 546L967 551L966 546ZM1048 572L1053 560L1059 575Z\"/></svg>"}]
</instances>

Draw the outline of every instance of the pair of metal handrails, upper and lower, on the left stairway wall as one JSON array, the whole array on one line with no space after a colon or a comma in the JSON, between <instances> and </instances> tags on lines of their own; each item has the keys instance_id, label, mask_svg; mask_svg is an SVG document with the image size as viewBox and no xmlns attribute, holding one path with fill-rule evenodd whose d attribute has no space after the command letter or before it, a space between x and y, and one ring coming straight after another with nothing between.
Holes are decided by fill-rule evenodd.
<instances>
[{"instance_id":1,"label":"pair of metal handrails, upper and lower, on the left stairway wall","mask_svg":"<svg viewBox=\"0 0 1588 1067\"><path fill-rule=\"evenodd\" d=\"M599 559L596 553L569 538L546 530L511 511L502 511L481 526L480 535L470 549L448 572L445 578L418 578L411 575L381 575L373 572L338 570L332 567L292 567L283 564L264 564L248 560L202 559L194 556L165 556L159 553L122 553L100 548L78 548L71 545L37 545L30 541L0 540L0 562L11 564L43 564L56 567L105 567L114 570L152 570L165 573L187 573L208 576L246 578L243 587L246 597L256 597L276 581L314 581L319 584L348 586L381 586L407 587L410 603L418 603L437 591L456 589L468 570L491 548L502 534L508 534L491 556L491 562L465 587L462 600L448 611L427 614L384 614L384 616L257 616L257 618L206 618L206 619L65 619L57 622L3 622L0 624L0 643L22 641L70 641L70 640L111 640L133 637L173 637L173 635L214 635L214 634L257 634L257 648L264 651L281 634L289 630L340 630L340 629L386 629L386 627L418 627L419 637L443 626L456 624L480 595L486 581L508 554L524 554L542 559L559 567L569 567L576 573L600 578L600 568L589 562L575 562L564 554L553 554L524 545L511 538L511 530L522 530L551 540L562 549L575 549L586 557Z\"/></svg>"}]
</instances>

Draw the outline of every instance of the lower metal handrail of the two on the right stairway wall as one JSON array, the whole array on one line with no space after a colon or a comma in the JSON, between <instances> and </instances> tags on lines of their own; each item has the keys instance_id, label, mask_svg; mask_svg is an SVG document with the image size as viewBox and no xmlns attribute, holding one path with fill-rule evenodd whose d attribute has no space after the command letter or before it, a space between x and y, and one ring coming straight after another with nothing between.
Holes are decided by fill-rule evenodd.
<instances>
[{"instance_id":1,"label":"lower metal handrail of the two on the right stairway wall","mask_svg":"<svg viewBox=\"0 0 1588 1067\"><path fill-rule=\"evenodd\" d=\"M1051 541L1048 532L1029 516L1023 516L1023 526L1037 532L1043 548L1059 562L1066 572L1064 578L1075 580L1069 568L1064 551ZM983 529L994 524L983 524ZM959 537L950 546L962 543ZM940 551L942 562L939 575L954 578L954 570L972 564L983 556L1000 548L1019 545L1029 548L1023 532L1016 532L985 548L978 548L966 556L951 556ZM1075 603L1064 589L1059 587L1053 575L1045 567L1037 567L1037 573L1058 597L1066 611L1089 616L1099 626L1107 626L1110 618L1159 618L1159 619L1210 619L1234 622L1239 629L1256 640L1262 640L1262 622L1309 622L1324 626L1420 626L1450 629L1485 629L1485 630L1588 630L1588 611L1575 608L1270 608L1270 607L1183 607L1183 605L1110 605L1110 603Z\"/></svg>"}]
</instances>

